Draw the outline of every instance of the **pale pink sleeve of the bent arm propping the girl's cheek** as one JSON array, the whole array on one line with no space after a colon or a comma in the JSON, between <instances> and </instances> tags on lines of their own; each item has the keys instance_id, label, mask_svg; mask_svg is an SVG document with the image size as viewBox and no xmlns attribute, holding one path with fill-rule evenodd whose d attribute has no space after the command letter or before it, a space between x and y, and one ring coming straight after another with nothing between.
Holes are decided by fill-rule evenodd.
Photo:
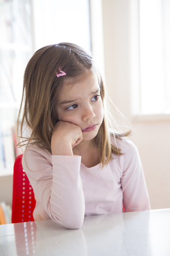
<instances>
[{"instance_id":1,"label":"pale pink sleeve of the bent arm propping the girl's cheek","mask_svg":"<svg viewBox=\"0 0 170 256\"><path fill-rule=\"evenodd\" d=\"M82 226L85 203L80 156L50 156L28 149L22 165L33 191L51 219L66 228Z\"/></svg>"}]
</instances>

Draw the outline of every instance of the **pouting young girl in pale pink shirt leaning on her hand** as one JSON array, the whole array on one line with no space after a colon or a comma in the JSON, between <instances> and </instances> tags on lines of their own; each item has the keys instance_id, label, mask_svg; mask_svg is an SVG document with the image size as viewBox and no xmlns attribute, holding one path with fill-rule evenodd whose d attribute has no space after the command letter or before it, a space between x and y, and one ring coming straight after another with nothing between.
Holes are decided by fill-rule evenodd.
<instances>
[{"instance_id":1,"label":"pouting young girl in pale pink shirt leaning on her hand","mask_svg":"<svg viewBox=\"0 0 170 256\"><path fill-rule=\"evenodd\" d=\"M94 60L78 45L43 47L28 62L18 122L35 220L77 229L84 215L150 209L138 150L130 132L109 127L106 103Z\"/></svg>"}]
</instances>

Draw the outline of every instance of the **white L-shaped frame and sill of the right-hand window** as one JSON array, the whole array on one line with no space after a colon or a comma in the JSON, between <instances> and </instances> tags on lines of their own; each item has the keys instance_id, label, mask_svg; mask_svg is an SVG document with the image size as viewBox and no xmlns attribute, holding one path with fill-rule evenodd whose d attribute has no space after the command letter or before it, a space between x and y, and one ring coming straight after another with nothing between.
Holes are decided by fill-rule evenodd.
<instances>
[{"instance_id":1,"label":"white L-shaped frame and sill of the right-hand window","mask_svg":"<svg viewBox=\"0 0 170 256\"><path fill-rule=\"evenodd\" d=\"M134 121L170 119L170 114L141 113L139 1L130 0L130 109Z\"/></svg>"}]
</instances>

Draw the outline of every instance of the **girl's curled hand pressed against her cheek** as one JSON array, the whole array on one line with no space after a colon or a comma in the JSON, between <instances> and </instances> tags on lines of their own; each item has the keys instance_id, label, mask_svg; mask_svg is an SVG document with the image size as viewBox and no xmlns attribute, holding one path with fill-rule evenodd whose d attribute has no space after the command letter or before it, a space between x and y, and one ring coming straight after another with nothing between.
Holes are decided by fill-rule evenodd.
<instances>
[{"instance_id":1,"label":"girl's curled hand pressed against her cheek","mask_svg":"<svg viewBox=\"0 0 170 256\"><path fill-rule=\"evenodd\" d=\"M70 122L56 123L52 134L52 155L73 156L72 148L83 139L81 128Z\"/></svg>"}]
</instances>

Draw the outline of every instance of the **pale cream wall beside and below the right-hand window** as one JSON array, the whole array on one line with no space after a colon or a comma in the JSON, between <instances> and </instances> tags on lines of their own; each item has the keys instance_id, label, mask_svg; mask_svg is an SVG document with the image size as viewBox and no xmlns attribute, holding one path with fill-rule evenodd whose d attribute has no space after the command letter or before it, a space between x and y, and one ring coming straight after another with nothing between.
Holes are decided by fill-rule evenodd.
<instances>
[{"instance_id":1,"label":"pale cream wall beside and below the right-hand window","mask_svg":"<svg viewBox=\"0 0 170 256\"><path fill-rule=\"evenodd\" d=\"M130 0L103 0L105 75L110 96L137 132L151 208L170 207L170 119L135 121L131 113Z\"/></svg>"}]
</instances>

